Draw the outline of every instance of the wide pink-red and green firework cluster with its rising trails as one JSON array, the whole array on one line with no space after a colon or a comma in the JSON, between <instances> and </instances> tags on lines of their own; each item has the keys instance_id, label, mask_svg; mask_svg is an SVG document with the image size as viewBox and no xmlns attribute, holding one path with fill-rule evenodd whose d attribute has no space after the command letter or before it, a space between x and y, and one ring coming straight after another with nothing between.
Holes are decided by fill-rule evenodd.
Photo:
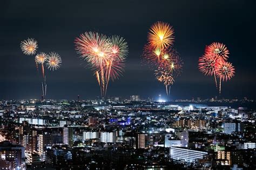
<instances>
[{"instance_id":1,"label":"wide pink-red and green firework cluster with its rising trails","mask_svg":"<svg viewBox=\"0 0 256 170\"><path fill-rule=\"evenodd\" d=\"M100 86L103 98L106 96L109 80L122 75L128 45L123 37L107 37L98 32L85 32L75 39L75 49L87 61Z\"/></svg>"}]
</instances>

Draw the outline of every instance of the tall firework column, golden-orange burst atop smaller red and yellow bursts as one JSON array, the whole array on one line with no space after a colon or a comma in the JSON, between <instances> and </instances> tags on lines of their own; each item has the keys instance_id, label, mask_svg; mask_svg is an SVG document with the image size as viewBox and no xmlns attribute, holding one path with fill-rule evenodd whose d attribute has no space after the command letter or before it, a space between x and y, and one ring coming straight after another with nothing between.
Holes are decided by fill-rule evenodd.
<instances>
[{"instance_id":1,"label":"tall firework column, golden-orange burst atop smaller red and yellow bursts","mask_svg":"<svg viewBox=\"0 0 256 170\"><path fill-rule=\"evenodd\" d=\"M174 77L179 76L183 65L178 52L172 46L173 42L172 26L156 22L150 28L148 43L144 46L142 55L143 63L152 67L157 80L165 85L167 96L170 95Z\"/></svg>"}]
</instances>

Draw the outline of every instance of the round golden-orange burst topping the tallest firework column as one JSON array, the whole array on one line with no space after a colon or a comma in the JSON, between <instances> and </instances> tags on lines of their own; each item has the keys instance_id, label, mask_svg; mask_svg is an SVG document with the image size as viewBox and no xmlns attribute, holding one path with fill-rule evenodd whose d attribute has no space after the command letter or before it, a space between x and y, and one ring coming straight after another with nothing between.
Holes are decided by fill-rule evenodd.
<instances>
[{"instance_id":1,"label":"round golden-orange burst topping the tallest firework column","mask_svg":"<svg viewBox=\"0 0 256 170\"><path fill-rule=\"evenodd\" d=\"M165 49L173 44L174 30L170 24L158 21L151 26L148 39L154 49Z\"/></svg>"}]
</instances>

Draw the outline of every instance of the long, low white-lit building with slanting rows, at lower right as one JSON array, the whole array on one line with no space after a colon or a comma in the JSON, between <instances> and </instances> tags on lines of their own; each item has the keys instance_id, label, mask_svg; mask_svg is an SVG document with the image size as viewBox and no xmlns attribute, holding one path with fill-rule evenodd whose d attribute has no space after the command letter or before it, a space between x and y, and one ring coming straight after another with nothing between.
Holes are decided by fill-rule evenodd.
<instances>
[{"instance_id":1,"label":"long, low white-lit building with slanting rows, at lower right","mask_svg":"<svg viewBox=\"0 0 256 170\"><path fill-rule=\"evenodd\" d=\"M188 149L185 147L171 147L171 158L184 162L196 162L198 159L204 159L208 154L204 151Z\"/></svg>"}]
</instances>

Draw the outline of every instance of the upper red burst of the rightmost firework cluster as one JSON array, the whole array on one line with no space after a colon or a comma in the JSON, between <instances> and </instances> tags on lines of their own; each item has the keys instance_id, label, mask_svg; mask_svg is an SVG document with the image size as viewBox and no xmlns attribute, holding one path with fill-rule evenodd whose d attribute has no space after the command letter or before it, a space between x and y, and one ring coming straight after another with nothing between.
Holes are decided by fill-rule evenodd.
<instances>
[{"instance_id":1,"label":"upper red burst of the rightmost firework cluster","mask_svg":"<svg viewBox=\"0 0 256 170\"><path fill-rule=\"evenodd\" d=\"M205 48L205 53L214 55L216 57L220 57L223 60L227 60L228 55L230 52L228 51L227 47L223 43L212 43Z\"/></svg>"}]
</instances>

